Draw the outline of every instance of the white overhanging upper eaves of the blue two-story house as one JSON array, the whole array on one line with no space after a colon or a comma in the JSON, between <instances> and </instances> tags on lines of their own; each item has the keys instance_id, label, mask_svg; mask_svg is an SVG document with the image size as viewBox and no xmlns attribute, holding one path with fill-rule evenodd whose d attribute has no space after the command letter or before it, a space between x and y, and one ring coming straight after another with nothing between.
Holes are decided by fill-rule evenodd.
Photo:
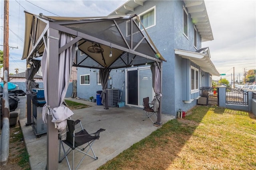
<instances>
[{"instance_id":1,"label":"white overhanging upper eaves of the blue two-story house","mask_svg":"<svg viewBox=\"0 0 256 170\"><path fill-rule=\"evenodd\" d=\"M143 6L146 0L128 0L122 6L110 13L109 16L125 15L128 12L134 12L134 8L141 5ZM164 1L163 1L164 2ZM204 0L184 0L185 7L188 9L188 13L191 15L193 23L201 35L202 42L212 41L212 28L206 11Z\"/></svg>"}]
</instances>

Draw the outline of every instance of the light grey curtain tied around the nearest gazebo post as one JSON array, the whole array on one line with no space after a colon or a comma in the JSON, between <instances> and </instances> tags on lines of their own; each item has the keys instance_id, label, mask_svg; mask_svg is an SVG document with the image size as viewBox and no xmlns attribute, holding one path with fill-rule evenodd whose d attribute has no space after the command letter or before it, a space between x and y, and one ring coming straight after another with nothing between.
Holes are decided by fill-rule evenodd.
<instances>
[{"instance_id":1,"label":"light grey curtain tied around the nearest gazebo post","mask_svg":"<svg viewBox=\"0 0 256 170\"><path fill-rule=\"evenodd\" d=\"M72 37L67 35L66 33L60 33L59 39L59 47L64 46L66 43L72 41ZM76 50L75 45L72 45L59 55L59 76L58 76L58 107L51 109L48 106L48 96L47 96L47 64L46 64L46 49L44 50L44 54L42 57L41 65L42 65L42 74L44 81L44 96L46 100L46 104L43 107L42 117L44 123L47 123L47 114L52 115L52 122L55 124L55 128L58 129L61 139L66 139L66 119L72 116L74 113L66 106L62 104L64 98L66 96L66 92L68 89L72 64L74 62ZM54 83L54 82L53 82Z\"/></svg>"}]
</instances>

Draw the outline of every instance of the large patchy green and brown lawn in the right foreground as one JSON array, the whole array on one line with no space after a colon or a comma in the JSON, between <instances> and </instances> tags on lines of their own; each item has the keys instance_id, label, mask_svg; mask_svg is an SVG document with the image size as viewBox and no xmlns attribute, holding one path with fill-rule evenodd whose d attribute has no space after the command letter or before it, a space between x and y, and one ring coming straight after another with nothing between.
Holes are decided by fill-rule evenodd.
<instances>
[{"instance_id":1,"label":"large patchy green and brown lawn in the right foreground","mask_svg":"<svg viewBox=\"0 0 256 170\"><path fill-rule=\"evenodd\" d=\"M256 169L252 113L196 106L99 169Z\"/></svg>"}]
</instances>

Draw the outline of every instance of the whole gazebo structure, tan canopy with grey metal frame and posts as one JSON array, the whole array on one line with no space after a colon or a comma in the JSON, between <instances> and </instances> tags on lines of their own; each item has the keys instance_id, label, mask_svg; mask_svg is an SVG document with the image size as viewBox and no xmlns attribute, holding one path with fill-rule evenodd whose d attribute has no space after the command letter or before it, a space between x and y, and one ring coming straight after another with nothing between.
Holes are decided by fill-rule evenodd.
<instances>
[{"instance_id":1,"label":"whole gazebo structure, tan canopy with grey metal frame and posts","mask_svg":"<svg viewBox=\"0 0 256 170\"><path fill-rule=\"evenodd\" d=\"M58 107L58 56L71 46L85 53L76 57L73 66L98 69L127 68L145 63L156 63L160 70L160 93L162 94L162 61L166 61L155 47L149 35L138 27L136 15L106 17L53 17L25 12L25 42L22 59L27 64L36 53L47 51L47 95L48 106ZM59 33L66 33L74 39L59 47ZM99 45L104 52L90 53L88 47ZM109 57L112 51L112 57ZM162 95L159 95L159 109L156 124L161 125ZM28 99L29 100L29 99ZM31 102L28 102L28 105ZM31 116L31 108L27 110ZM28 120L29 121L29 120ZM29 122L28 122L29 123ZM58 130L47 119L47 169L58 168Z\"/></svg>"}]
</instances>

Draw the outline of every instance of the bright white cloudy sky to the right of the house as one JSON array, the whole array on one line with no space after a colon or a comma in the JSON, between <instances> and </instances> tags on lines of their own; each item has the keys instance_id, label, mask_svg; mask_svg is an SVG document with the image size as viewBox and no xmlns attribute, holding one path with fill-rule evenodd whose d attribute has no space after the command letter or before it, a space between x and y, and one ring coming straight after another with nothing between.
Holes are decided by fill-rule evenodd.
<instances>
[{"instance_id":1,"label":"bright white cloudy sky to the right of the house","mask_svg":"<svg viewBox=\"0 0 256 170\"><path fill-rule=\"evenodd\" d=\"M214 40L202 43L202 47L210 47L211 60L217 70L225 73L231 82L234 70L235 76L242 77L244 68L256 69L255 1L206 0L205 4ZM213 79L220 77L213 76Z\"/></svg>"}]
</instances>

